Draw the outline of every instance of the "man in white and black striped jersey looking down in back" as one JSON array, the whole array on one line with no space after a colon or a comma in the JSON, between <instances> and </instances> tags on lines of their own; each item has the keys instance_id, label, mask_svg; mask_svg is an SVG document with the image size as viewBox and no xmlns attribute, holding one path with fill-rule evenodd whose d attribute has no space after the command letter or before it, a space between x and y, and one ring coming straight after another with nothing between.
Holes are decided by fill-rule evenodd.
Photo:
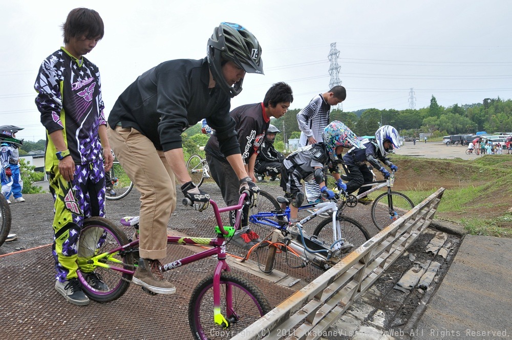
<instances>
[{"instance_id":1,"label":"man in white and black striped jersey looking down in back","mask_svg":"<svg viewBox=\"0 0 512 340\"><path fill-rule=\"evenodd\" d=\"M322 142L322 134L329 124L331 105L337 105L347 98L347 90L343 86L335 86L328 92L315 96L297 114L298 128L302 131L298 141L299 147ZM306 199L315 202L320 198L320 187L306 182Z\"/></svg>"}]
</instances>

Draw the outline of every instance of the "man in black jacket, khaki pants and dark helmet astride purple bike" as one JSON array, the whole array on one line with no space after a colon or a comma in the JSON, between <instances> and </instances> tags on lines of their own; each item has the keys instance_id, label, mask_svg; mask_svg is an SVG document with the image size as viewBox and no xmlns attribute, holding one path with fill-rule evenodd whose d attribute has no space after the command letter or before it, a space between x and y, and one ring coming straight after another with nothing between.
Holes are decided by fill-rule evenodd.
<instances>
[{"instance_id":1,"label":"man in black jacket, khaki pants and dark helmet astride purple bike","mask_svg":"<svg viewBox=\"0 0 512 340\"><path fill-rule=\"evenodd\" d=\"M209 195L187 172L181 133L206 118L220 151L236 173L239 189L257 192L248 176L229 116L230 100L242 91L246 73L263 74L261 47L246 28L221 23L208 39L204 59L177 59L140 75L117 99L109 115L108 136L121 166L141 193L140 261L133 282L172 294L176 288L161 273L167 224L176 207L175 177L198 210Z\"/></svg>"}]
</instances>

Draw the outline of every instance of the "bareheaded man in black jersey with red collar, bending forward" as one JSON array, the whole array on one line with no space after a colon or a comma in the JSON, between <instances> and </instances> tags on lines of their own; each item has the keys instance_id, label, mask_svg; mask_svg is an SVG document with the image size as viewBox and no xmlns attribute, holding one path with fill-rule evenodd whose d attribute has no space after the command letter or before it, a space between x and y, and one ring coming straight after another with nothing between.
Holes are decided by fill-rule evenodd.
<instances>
[{"instance_id":1,"label":"bareheaded man in black jersey with red collar, bending forward","mask_svg":"<svg viewBox=\"0 0 512 340\"><path fill-rule=\"evenodd\" d=\"M278 82L265 94L263 102L242 105L231 111L229 114L236 122L238 132L238 142L241 145L242 160L245 170L255 181L254 163L258 156L258 149L263 141L270 123L270 118L280 118L284 116L290 103L293 101L293 92L290 86L284 82ZM229 205L238 203L240 192L237 186L237 175L229 166L226 157L219 147L217 132L208 139L204 148L206 153L206 162L210 169L210 175L221 188L224 202ZM233 239L233 243L244 248L250 248L258 239L258 235L251 232L248 228L248 207L244 206L242 229L238 230ZM236 211L231 214L230 222L234 225ZM259 241L258 241L259 242Z\"/></svg>"}]
</instances>

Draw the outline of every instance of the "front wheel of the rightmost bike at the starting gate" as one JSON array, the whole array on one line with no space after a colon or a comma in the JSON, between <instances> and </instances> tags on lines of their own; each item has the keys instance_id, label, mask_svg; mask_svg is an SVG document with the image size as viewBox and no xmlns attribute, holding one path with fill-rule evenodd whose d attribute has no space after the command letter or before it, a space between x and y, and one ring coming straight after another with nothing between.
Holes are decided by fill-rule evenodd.
<instances>
[{"instance_id":1,"label":"front wheel of the rightmost bike at the starting gate","mask_svg":"<svg viewBox=\"0 0 512 340\"><path fill-rule=\"evenodd\" d=\"M414 207L413 201L398 192L382 193L373 201L372 220L382 230ZM395 215L396 213L396 215Z\"/></svg>"}]
</instances>

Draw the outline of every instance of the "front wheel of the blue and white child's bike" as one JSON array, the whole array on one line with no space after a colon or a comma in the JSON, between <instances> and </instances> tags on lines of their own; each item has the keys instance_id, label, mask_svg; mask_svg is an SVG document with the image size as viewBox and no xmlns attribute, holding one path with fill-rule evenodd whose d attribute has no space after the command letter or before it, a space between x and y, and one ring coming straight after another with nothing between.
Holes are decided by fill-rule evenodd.
<instances>
[{"instance_id":1,"label":"front wheel of the blue and white child's bike","mask_svg":"<svg viewBox=\"0 0 512 340\"><path fill-rule=\"evenodd\" d=\"M350 217L340 215L336 217L336 223L339 225L339 230L341 231L341 237L345 240L345 242L351 243L354 245L353 249L358 248L361 244L370 240L370 234L359 222ZM334 232L332 226L332 218L325 219L320 222L315 231L313 231L313 235L322 239L327 244L332 244L334 240ZM345 256L346 254L343 254Z\"/></svg>"}]
</instances>

